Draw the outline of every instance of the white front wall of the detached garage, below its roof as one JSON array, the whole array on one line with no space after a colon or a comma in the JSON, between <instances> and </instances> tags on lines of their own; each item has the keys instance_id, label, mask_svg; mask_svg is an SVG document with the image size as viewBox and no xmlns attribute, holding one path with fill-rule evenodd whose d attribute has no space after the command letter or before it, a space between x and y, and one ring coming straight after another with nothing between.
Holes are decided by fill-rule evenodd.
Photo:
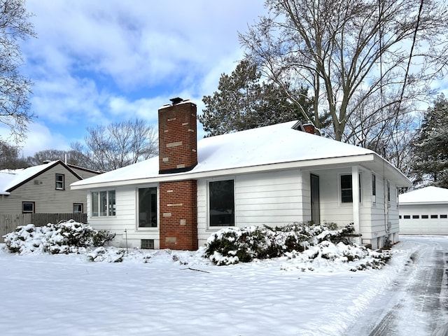
<instances>
[{"instance_id":1,"label":"white front wall of the detached garage, below its roof","mask_svg":"<svg viewBox=\"0 0 448 336\"><path fill-rule=\"evenodd\" d=\"M399 212L402 235L448 235L448 204L400 204Z\"/></svg>"}]
</instances>

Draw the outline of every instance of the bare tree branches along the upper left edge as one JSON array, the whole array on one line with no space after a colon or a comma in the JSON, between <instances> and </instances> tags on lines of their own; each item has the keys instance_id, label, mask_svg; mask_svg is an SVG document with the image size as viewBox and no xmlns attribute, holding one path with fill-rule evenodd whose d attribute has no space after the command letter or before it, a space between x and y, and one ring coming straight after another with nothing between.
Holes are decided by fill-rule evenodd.
<instances>
[{"instance_id":1,"label":"bare tree branches along the upper left edge","mask_svg":"<svg viewBox=\"0 0 448 336\"><path fill-rule=\"evenodd\" d=\"M35 118L29 103L31 80L19 72L18 40L36 36L30 17L25 1L0 0L0 123L9 128L15 141L25 138L27 125Z\"/></svg>"}]
</instances>

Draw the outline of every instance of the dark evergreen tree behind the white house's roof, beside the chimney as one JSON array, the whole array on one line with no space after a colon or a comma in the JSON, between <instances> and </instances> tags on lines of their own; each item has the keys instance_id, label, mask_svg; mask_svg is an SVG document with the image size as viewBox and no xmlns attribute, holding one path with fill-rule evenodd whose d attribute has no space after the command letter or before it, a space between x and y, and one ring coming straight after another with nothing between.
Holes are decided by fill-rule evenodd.
<instances>
[{"instance_id":1,"label":"dark evergreen tree behind the white house's roof, beside the chimney","mask_svg":"<svg viewBox=\"0 0 448 336\"><path fill-rule=\"evenodd\" d=\"M206 108L199 116L208 136L249 130L251 128L304 120L300 109L309 116L313 113L313 100L307 97L308 89L295 92L300 104L293 104L274 83L261 81L261 73L247 60L239 62L229 76L221 75L218 91L204 96Z\"/></svg>"}]
</instances>

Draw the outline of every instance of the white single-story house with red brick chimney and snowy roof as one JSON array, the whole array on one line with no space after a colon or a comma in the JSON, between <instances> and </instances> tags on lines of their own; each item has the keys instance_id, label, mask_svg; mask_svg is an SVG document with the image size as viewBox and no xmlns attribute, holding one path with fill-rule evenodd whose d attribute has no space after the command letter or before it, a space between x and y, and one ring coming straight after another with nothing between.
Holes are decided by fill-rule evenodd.
<instances>
[{"instance_id":1,"label":"white single-story house with red brick chimney and snowy roof","mask_svg":"<svg viewBox=\"0 0 448 336\"><path fill-rule=\"evenodd\" d=\"M196 105L172 102L158 111L158 157L71 185L114 244L195 250L223 227L309 221L354 223L373 248L398 241L397 188L411 183L373 151L296 122L197 142Z\"/></svg>"}]
</instances>

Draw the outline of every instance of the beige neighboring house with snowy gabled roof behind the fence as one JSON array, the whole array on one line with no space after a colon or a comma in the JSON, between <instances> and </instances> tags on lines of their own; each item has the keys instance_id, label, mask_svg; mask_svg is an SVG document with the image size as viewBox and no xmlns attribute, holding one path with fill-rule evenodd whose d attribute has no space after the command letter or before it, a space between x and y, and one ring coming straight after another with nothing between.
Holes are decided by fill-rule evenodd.
<instances>
[{"instance_id":1,"label":"beige neighboring house with snowy gabled roof behind the fence","mask_svg":"<svg viewBox=\"0 0 448 336\"><path fill-rule=\"evenodd\" d=\"M0 214L85 213L84 190L70 184L98 175L57 160L25 169L0 171Z\"/></svg>"}]
</instances>

